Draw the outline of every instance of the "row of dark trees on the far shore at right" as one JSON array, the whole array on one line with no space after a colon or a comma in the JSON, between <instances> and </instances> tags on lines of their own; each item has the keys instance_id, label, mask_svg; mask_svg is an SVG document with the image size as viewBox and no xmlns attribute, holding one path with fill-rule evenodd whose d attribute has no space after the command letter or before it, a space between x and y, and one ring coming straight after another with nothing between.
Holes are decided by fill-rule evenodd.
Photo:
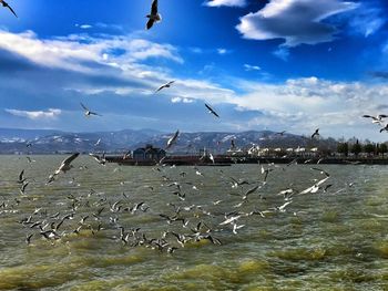
<instances>
[{"instance_id":1,"label":"row of dark trees on the far shore at right","mask_svg":"<svg viewBox=\"0 0 388 291\"><path fill-rule=\"evenodd\" d=\"M368 156L385 156L388 153L387 144L360 144L358 141L354 144L350 143L338 143L337 153L344 156L354 154L358 156L360 154L366 154Z\"/></svg>"}]
</instances>

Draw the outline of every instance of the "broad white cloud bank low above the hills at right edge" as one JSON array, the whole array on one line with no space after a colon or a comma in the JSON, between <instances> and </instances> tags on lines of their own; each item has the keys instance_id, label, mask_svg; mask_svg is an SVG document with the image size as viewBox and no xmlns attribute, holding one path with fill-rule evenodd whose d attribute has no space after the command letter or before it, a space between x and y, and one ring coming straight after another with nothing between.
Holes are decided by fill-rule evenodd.
<instances>
[{"instance_id":1,"label":"broad white cloud bank low above the hills at right edge","mask_svg":"<svg viewBox=\"0 0 388 291\"><path fill-rule=\"evenodd\" d=\"M241 110L257 111L247 127L268 126L294 133L309 133L321 127L326 136L379 136L378 127L361 118L377 115L388 94L388 85L360 82L333 82L317 77L288 80L283 84L242 81L245 94L229 96L227 102ZM367 134L366 134L367 133Z\"/></svg>"}]
</instances>

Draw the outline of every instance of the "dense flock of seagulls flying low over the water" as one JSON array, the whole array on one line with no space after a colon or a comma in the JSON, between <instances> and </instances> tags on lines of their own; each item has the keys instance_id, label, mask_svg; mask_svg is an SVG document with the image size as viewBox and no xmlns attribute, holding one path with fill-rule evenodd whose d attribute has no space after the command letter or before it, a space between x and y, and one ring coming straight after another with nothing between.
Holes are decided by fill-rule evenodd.
<instances>
[{"instance_id":1,"label":"dense flock of seagulls flying low over the water","mask_svg":"<svg viewBox=\"0 0 388 291\"><path fill-rule=\"evenodd\" d=\"M21 170L16 178L20 195L11 195L11 198L4 199L0 205L0 217L10 211L17 214L17 222L24 229L29 246L41 246L44 241L55 245L78 237L109 239L129 247L146 247L167 253L206 240L219 246L224 243L222 238L238 235L256 218L270 219L284 214L302 215L302 211L289 211L295 200L303 201L303 195L326 194L333 186L328 183L330 174L313 166L309 168L309 185L298 186L292 183L289 188L276 189L270 177L295 170L293 167L297 165L297 159L284 166L270 163L258 165L254 179L232 177L225 169L217 169L216 173L213 167L207 172L195 166L181 168L160 164L150 168L150 172L156 173L153 174L156 181L151 185L150 181L145 185L141 181L139 185L137 190L144 193L141 197L133 198L131 193L125 191L111 196L94 189L80 190L82 183L76 178L82 176L82 172L95 169L86 166L74 167L78 157L79 154L73 154L65 158L49 176L45 186L39 184L39 177L25 177L25 170ZM104 163L99 164L102 167L100 170L111 170ZM120 169L114 169L116 170ZM69 172L74 172L71 178ZM68 190L62 188L68 195L55 196L55 204L52 201L53 197L30 194L28 188L31 184L52 187L50 185L55 183L72 186ZM214 187L212 191L215 188L226 189L219 200L208 200L212 197L207 188L210 183ZM120 191L123 185L125 184L118 184L116 190ZM346 185L333 194L351 186ZM202 199L204 197L206 198ZM161 206L160 200L167 202ZM21 206L30 207L31 212L22 212ZM157 231L151 229L150 222L135 225L134 221L139 221L136 218L142 216L152 218L146 221L157 222Z\"/></svg>"}]
</instances>

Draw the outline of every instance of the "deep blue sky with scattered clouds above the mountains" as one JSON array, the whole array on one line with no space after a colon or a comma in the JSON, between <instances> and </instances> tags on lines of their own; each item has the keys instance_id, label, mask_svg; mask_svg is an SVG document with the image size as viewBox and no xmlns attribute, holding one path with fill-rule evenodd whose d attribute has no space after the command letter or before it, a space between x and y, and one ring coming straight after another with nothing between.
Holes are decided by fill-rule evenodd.
<instances>
[{"instance_id":1,"label":"deep blue sky with scattered clouds above the mountains","mask_svg":"<svg viewBox=\"0 0 388 291\"><path fill-rule=\"evenodd\" d=\"M159 0L146 30L151 2L8 0L0 127L388 139L387 1Z\"/></svg>"}]
</instances>

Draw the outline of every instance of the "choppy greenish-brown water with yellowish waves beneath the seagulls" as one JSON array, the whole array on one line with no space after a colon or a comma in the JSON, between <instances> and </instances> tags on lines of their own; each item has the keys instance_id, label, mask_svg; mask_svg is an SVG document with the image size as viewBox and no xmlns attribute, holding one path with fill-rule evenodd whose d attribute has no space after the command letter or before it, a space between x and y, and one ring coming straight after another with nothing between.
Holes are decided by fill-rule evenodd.
<instances>
[{"instance_id":1,"label":"choppy greenish-brown water with yellowish waves beneath the seagulls","mask_svg":"<svg viewBox=\"0 0 388 291\"><path fill-rule=\"evenodd\" d=\"M0 204L6 202L0 208L0 290L388 290L388 167L319 165L331 174L327 193L294 196L285 212L267 212L265 218L242 216L237 224L245 227L234 235L231 226L219 226L225 212L280 206L285 201L277 193L290 184L300 191L324 176L308 165L276 168L266 186L234 208L253 185L233 189L228 177L256 183L263 179L261 166L202 167L202 177L192 167L116 169L80 157L74 169L44 185L63 158L35 156L29 164L25 157L0 157ZM79 168L84 165L86 169ZM21 169L30 180L25 196L17 183ZM187 175L180 176L182 172ZM167 187L163 175L181 183L184 201L172 194L175 187ZM89 195L91 189L95 194ZM111 212L109 202L119 200L121 210ZM222 202L214 205L217 200ZM122 211L141 201L150 207L145 212ZM58 224L72 212L72 202L75 215L61 226L61 239L49 241L38 228L18 222L42 208L32 221ZM174 214L169 202L202 208L181 211L190 221L183 228L159 216ZM102 207L103 229L96 231L92 214ZM59 218L50 218L57 212ZM86 215L80 233L72 233ZM110 222L110 217L119 220ZM198 221L215 229L212 236L223 245L201 240L181 248L167 237L171 246L180 247L167 253L114 239L120 238L118 226L125 231L141 228L151 239L167 230L193 233L190 228ZM28 233L34 233L30 246Z\"/></svg>"}]
</instances>

